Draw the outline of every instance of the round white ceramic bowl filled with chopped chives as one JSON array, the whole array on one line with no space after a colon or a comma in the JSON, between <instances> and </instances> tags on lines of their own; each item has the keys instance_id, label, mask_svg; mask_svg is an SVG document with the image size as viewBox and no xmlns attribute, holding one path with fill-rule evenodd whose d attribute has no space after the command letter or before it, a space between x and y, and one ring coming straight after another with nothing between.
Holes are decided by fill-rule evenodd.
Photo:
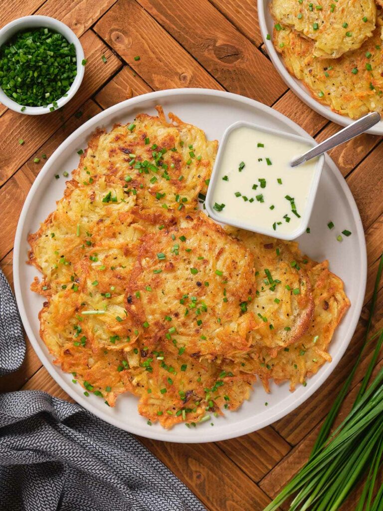
<instances>
[{"instance_id":1,"label":"round white ceramic bowl filled with chopped chives","mask_svg":"<svg viewBox=\"0 0 383 511\"><path fill-rule=\"evenodd\" d=\"M84 78L85 66L82 64L84 59L84 50L82 49L81 42L79 41L79 38L76 36L76 34L64 23L58 19L51 18L50 16L24 16L22 18L14 19L0 30L0 47L17 32L27 29L36 29L39 27L46 27L60 33L69 43L73 43L76 48L77 75L69 90L67 91L67 96L57 100L58 108L60 108L64 106L71 98L73 98L80 87L82 79ZM1 87L0 102L11 110L19 113L25 113L26 115L42 115L44 113L50 113L50 107L52 106L52 103L47 107L27 106L26 109L21 112L21 107L23 105L20 105L16 103L16 101L11 100L11 98L8 98Z\"/></svg>"}]
</instances>

